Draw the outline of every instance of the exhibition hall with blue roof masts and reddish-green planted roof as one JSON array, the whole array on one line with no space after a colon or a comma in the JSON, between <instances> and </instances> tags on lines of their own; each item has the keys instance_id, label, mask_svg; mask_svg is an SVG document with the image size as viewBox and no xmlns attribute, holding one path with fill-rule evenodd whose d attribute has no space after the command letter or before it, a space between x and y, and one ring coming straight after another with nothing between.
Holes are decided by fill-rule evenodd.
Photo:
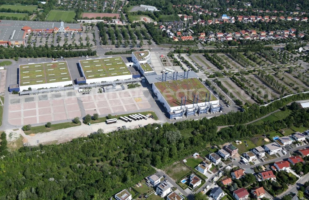
<instances>
[{"instance_id":1,"label":"exhibition hall with blue roof masts and reddish-green planted roof","mask_svg":"<svg viewBox=\"0 0 309 200\"><path fill-rule=\"evenodd\" d=\"M182 114L191 116L208 111L219 112L221 110L219 99L198 78L187 77L188 72L182 76L170 75L169 80L162 75L161 81L152 83L154 94L170 113L170 118L182 116Z\"/></svg>"}]
</instances>

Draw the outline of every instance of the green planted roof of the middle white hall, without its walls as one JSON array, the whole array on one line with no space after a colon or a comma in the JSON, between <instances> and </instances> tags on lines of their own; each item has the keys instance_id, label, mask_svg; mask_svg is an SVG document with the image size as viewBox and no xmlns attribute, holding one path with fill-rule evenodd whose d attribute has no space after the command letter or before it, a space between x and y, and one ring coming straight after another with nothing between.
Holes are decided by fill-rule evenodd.
<instances>
[{"instance_id":1,"label":"green planted roof of the middle white hall, without its walls","mask_svg":"<svg viewBox=\"0 0 309 200\"><path fill-rule=\"evenodd\" d=\"M86 79L131 75L121 56L80 60L79 63Z\"/></svg>"}]
</instances>

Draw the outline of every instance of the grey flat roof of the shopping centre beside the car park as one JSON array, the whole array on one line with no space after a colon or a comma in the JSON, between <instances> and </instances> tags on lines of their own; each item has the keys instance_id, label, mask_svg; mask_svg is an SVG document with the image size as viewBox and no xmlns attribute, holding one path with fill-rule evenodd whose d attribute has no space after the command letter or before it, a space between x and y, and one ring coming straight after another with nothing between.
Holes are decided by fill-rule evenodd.
<instances>
[{"instance_id":1,"label":"grey flat roof of the shopping centre beside the car park","mask_svg":"<svg viewBox=\"0 0 309 200\"><path fill-rule=\"evenodd\" d=\"M59 28L60 22L37 22L37 21L18 21L18 20L1 20L0 22L0 40L2 41L22 41L24 38L24 31L22 28L29 26L36 30L53 30L54 27ZM64 23L64 27L69 26L70 29L80 29L79 23L70 24ZM15 32L14 32L15 31ZM13 34L14 33L14 34ZM11 39L11 37L13 38Z\"/></svg>"}]
</instances>

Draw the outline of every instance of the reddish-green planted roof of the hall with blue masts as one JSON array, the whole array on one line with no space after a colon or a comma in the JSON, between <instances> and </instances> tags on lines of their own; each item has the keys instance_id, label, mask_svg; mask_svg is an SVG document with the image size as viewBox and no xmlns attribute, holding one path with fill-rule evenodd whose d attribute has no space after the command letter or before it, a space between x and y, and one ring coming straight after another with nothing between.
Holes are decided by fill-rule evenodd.
<instances>
[{"instance_id":1,"label":"reddish-green planted roof of the hall with blue masts","mask_svg":"<svg viewBox=\"0 0 309 200\"><path fill-rule=\"evenodd\" d=\"M184 97L186 97L186 105L193 104L195 95L195 103L198 97L198 103L205 102L207 94L207 101L210 95L210 101L218 100L197 78L186 78L178 80L170 80L163 82L154 82L159 92L162 94L168 105L171 107L180 106L181 97L183 97L182 104L184 105Z\"/></svg>"}]
</instances>

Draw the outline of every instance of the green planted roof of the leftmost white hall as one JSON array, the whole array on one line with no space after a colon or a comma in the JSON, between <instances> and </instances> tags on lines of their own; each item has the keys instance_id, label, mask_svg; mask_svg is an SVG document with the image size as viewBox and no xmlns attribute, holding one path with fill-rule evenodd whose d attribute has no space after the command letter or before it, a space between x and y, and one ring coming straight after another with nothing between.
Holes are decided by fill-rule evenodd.
<instances>
[{"instance_id":1,"label":"green planted roof of the leftmost white hall","mask_svg":"<svg viewBox=\"0 0 309 200\"><path fill-rule=\"evenodd\" d=\"M66 61L19 65L19 86L63 81L72 81Z\"/></svg>"}]
</instances>

